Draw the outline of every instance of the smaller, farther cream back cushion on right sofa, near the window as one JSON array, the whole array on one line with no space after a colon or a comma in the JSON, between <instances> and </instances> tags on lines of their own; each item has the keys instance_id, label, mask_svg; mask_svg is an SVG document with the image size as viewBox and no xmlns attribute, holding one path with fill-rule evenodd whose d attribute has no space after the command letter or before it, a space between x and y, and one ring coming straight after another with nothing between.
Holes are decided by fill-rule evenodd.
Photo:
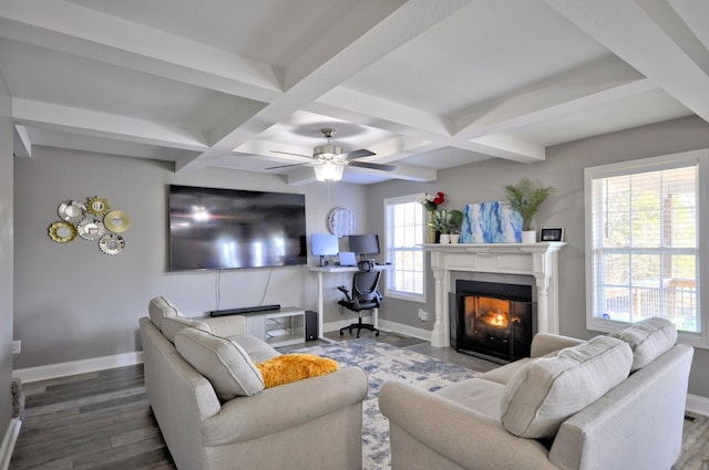
<instances>
[{"instance_id":1,"label":"smaller, farther cream back cushion on right sofa, near the window","mask_svg":"<svg viewBox=\"0 0 709 470\"><path fill-rule=\"evenodd\" d=\"M610 336L630 345L633 349L630 372L635 372L665 354L677 343L677 327L669 320L654 317L613 332Z\"/></svg>"}]
</instances>

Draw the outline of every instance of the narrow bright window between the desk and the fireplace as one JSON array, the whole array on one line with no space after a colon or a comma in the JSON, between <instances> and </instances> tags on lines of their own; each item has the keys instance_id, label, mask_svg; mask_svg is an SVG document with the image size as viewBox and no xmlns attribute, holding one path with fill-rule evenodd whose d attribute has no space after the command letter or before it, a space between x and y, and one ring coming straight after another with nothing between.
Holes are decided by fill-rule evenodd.
<instances>
[{"instance_id":1,"label":"narrow bright window between the desk and the fireplace","mask_svg":"<svg viewBox=\"0 0 709 470\"><path fill-rule=\"evenodd\" d=\"M387 276L387 296L425 302L423 206L418 195L384 200L387 261L393 269Z\"/></svg>"}]
</instances>

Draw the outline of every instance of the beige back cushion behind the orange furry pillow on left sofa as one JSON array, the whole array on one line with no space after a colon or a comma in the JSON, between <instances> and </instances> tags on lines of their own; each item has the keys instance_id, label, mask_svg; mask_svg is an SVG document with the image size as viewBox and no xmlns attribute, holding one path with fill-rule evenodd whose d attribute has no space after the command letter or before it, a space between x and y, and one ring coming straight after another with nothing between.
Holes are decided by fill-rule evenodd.
<instances>
[{"instance_id":1,"label":"beige back cushion behind the orange furry pillow on left sofa","mask_svg":"<svg viewBox=\"0 0 709 470\"><path fill-rule=\"evenodd\" d=\"M175 348L212 383L223 400L256 395L264 389L264 379L251 358L228 338L184 328L175 335Z\"/></svg>"}]
</instances>

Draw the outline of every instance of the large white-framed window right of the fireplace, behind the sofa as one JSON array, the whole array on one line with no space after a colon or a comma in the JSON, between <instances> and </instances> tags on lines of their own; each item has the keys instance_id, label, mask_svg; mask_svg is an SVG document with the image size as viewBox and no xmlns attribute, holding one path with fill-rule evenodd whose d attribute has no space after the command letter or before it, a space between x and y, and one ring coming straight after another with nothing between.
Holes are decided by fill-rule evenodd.
<instances>
[{"instance_id":1,"label":"large white-framed window right of the fireplace, behind the sofa","mask_svg":"<svg viewBox=\"0 0 709 470\"><path fill-rule=\"evenodd\" d=\"M707 343L700 280L707 269L707 150L586 168L587 326L661 316ZM706 209L705 209L706 212ZM703 251L702 251L703 250ZM706 278L706 276L703 276Z\"/></svg>"}]
</instances>

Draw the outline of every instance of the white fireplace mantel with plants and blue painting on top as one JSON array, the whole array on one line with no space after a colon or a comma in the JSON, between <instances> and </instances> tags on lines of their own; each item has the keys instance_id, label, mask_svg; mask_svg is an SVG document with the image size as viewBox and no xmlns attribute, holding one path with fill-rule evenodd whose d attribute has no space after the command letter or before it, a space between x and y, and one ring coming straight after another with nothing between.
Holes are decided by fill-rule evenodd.
<instances>
[{"instance_id":1,"label":"white fireplace mantel with plants and blue painting on top","mask_svg":"<svg viewBox=\"0 0 709 470\"><path fill-rule=\"evenodd\" d=\"M536 281L537 331L557 333L558 261L563 242L424 244L431 252L435 280L433 347L450 346L449 291L451 272L482 272L532 275Z\"/></svg>"}]
</instances>

